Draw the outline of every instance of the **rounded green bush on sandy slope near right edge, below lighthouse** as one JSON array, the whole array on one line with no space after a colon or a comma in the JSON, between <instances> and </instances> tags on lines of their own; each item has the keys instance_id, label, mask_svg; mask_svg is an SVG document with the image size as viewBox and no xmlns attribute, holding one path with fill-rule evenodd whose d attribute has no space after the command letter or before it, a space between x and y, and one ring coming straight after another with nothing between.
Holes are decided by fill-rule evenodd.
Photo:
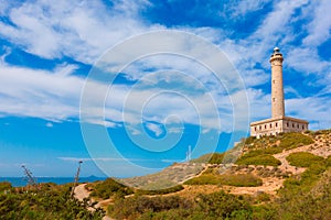
<instances>
[{"instance_id":1,"label":"rounded green bush on sandy slope near right edge, below lighthouse","mask_svg":"<svg viewBox=\"0 0 331 220\"><path fill-rule=\"evenodd\" d=\"M308 152L297 152L288 155L286 160L292 166L309 167L312 164L322 162L323 157L317 156Z\"/></svg>"}]
</instances>

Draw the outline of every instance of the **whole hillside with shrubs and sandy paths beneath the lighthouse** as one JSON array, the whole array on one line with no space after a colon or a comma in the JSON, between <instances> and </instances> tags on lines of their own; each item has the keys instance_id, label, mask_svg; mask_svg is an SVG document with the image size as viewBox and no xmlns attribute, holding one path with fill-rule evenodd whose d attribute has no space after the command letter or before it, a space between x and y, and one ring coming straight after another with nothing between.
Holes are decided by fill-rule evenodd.
<instances>
[{"instance_id":1,"label":"whole hillside with shrubs and sandy paths beneath the lighthouse","mask_svg":"<svg viewBox=\"0 0 331 220\"><path fill-rule=\"evenodd\" d=\"M164 178L180 187L158 189ZM116 219L331 219L331 130L248 138L229 152L126 180L156 190L122 185L126 194L106 194ZM88 188L98 195L110 185Z\"/></svg>"}]
</instances>

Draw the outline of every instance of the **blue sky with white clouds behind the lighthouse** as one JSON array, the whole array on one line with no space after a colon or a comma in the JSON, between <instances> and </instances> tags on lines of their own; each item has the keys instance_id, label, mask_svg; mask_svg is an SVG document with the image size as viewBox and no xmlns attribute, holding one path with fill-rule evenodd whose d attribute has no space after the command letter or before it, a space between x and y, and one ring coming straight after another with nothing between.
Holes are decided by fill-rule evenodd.
<instances>
[{"instance_id":1,"label":"blue sky with white clouds behind the lighthouse","mask_svg":"<svg viewBox=\"0 0 331 220\"><path fill-rule=\"evenodd\" d=\"M247 135L245 113L249 121L270 117L275 46L285 57L287 116L308 120L311 130L330 128L330 11L329 0L0 1L0 176L21 176L22 164L36 176L73 176L79 160L83 176L132 176L184 161L189 145L193 157L222 152ZM178 54L128 64L111 88L111 69L92 77L116 45L167 30L215 45L245 88L228 90L211 69ZM162 37L150 44L166 44ZM86 81L94 88L87 117ZM103 95L105 107L94 108ZM245 112L234 110L247 100Z\"/></svg>"}]
</instances>

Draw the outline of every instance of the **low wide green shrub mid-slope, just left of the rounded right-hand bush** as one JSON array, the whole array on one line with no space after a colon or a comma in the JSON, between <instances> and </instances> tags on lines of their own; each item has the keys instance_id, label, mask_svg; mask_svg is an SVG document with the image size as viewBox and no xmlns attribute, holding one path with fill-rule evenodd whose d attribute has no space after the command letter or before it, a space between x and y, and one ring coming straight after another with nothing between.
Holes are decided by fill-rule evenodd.
<instances>
[{"instance_id":1,"label":"low wide green shrub mid-slope, just left of the rounded right-hand bush","mask_svg":"<svg viewBox=\"0 0 331 220\"><path fill-rule=\"evenodd\" d=\"M244 155L236 162L238 165L265 165L265 166L278 166L281 162L269 154L261 155Z\"/></svg>"}]
</instances>

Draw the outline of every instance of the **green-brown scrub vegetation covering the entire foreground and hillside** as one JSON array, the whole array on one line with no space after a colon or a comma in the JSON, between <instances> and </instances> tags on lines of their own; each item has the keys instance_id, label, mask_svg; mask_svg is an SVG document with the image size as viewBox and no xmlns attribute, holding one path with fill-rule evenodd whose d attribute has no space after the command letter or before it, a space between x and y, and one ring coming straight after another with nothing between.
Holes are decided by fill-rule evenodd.
<instances>
[{"instance_id":1,"label":"green-brown scrub vegetation covering the entire foreground and hillside","mask_svg":"<svg viewBox=\"0 0 331 220\"><path fill-rule=\"evenodd\" d=\"M330 134L327 130L248 138L239 143L244 153L227 173L218 169L226 157L224 153L204 155L193 160L193 163L204 163L210 158L210 165L202 174L167 189L131 188L113 178L87 184L86 188L95 199L110 198L107 215L115 219L329 220L331 156L290 151L282 160L302 170L293 175L284 173L280 161L274 155L308 144L312 150L328 146ZM261 186L265 178L279 178L282 186L275 194L257 190L250 195L233 195L222 188L252 189ZM202 190L194 191L194 187ZM212 191L203 190L211 187ZM9 183L0 184L0 219L102 219L102 209L90 212L87 210L90 206L88 199L83 202L72 199L68 185L49 184L39 190L25 191Z\"/></svg>"}]
</instances>

